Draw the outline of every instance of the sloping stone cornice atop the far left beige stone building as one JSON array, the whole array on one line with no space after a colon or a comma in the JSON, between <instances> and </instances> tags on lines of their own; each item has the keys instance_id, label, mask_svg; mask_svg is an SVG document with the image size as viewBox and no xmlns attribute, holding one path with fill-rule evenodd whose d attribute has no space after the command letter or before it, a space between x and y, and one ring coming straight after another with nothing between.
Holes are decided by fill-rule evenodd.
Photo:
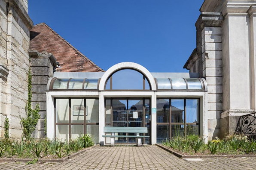
<instances>
[{"instance_id":1,"label":"sloping stone cornice atop the far left beige stone building","mask_svg":"<svg viewBox=\"0 0 256 170\"><path fill-rule=\"evenodd\" d=\"M19 2L19 0L5 0L6 3L9 2L9 6L12 6L24 23L27 25L28 29L32 29L34 23L27 14L27 11L24 9L23 5Z\"/></svg>"}]
</instances>

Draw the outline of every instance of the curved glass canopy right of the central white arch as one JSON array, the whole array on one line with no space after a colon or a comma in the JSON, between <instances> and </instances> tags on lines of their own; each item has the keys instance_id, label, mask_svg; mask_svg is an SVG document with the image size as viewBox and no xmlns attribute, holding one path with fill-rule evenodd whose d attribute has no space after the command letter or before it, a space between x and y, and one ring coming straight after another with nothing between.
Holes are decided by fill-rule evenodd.
<instances>
[{"instance_id":1,"label":"curved glass canopy right of the central white arch","mask_svg":"<svg viewBox=\"0 0 256 170\"><path fill-rule=\"evenodd\" d=\"M204 90L203 81L199 78L157 78L158 89L170 90Z\"/></svg>"}]
</instances>

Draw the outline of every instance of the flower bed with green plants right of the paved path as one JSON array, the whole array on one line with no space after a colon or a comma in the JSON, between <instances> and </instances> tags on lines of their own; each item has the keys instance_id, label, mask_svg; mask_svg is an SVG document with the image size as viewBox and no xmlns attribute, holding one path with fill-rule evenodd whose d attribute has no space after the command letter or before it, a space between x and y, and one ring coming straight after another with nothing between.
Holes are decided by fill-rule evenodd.
<instances>
[{"instance_id":1,"label":"flower bed with green plants right of the paved path","mask_svg":"<svg viewBox=\"0 0 256 170\"><path fill-rule=\"evenodd\" d=\"M247 136L231 135L224 139L209 141L197 135L178 136L163 142L163 146L171 148L182 155L253 155L256 153L256 141Z\"/></svg>"}]
</instances>

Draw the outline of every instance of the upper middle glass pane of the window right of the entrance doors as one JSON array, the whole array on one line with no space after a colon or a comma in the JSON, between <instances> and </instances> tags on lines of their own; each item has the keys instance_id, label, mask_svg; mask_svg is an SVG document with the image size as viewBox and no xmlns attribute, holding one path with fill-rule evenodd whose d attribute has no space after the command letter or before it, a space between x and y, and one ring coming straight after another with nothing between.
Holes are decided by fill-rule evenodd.
<instances>
[{"instance_id":1,"label":"upper middle glass pane of the window right of the entrance doors","mask_svg":"<svg viewBox=\"0 0 256 170\"><path fill-rule=\"evenodd\" d=\"M171 100L171 123L184 122L184 99Z\"/></svg>"}]
</instances>

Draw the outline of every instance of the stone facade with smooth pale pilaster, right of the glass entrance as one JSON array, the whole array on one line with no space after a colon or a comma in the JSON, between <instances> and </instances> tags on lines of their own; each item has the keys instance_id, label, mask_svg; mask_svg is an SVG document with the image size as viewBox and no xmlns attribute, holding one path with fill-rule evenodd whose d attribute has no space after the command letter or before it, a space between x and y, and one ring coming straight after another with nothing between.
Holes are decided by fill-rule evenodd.
<instances>
[{"instance_id":1,"label":"stone facade with smooth pale pilaster, right of the glass entrance","mask_svg":"<svg viewBox=\"0 0 256 170\"><path fill-rule=\"evenodd\" d=\"M211 139L235 132L256 109L256 0L205 0L200 11L197 53L184 68L207 81Z\"/></svg>"}]
</instances>

